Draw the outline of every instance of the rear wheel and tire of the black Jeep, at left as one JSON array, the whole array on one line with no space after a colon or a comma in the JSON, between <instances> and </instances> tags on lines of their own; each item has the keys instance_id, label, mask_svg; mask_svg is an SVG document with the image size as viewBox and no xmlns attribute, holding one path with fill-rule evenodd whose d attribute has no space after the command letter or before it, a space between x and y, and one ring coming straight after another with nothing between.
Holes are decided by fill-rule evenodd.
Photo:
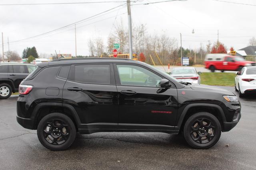
<instances>
[{"instance_id":1,"label":"rear wheel and tire of the black Jeep, at left","mask_svg":"<svg viewBox=\"0 0 256 170\"><path fill-rule=\"evenodd\" d=\"M38 123L37 136L47 149L65 150L76 138L76 127L67 115L50 113Z\"/></svg>"}]
</instances>

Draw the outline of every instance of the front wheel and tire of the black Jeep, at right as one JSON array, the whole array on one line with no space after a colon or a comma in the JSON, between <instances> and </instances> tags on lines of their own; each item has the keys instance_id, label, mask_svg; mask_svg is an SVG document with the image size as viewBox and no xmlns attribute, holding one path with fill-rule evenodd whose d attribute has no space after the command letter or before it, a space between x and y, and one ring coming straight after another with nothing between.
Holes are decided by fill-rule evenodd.
<instances>
[{"instance_id":1,"label":"front wheel and tire of the black Jeep, at right","mask_svg":"<svg viewBox=\"0 0 256 170\"><path fill-rule=\"evenodd\" d=\"M211 113L195 113L187 119L183 134L186 142L191 147L195 149L210 148L220 139L220 121Z\"/></svg>"}]
</instances>

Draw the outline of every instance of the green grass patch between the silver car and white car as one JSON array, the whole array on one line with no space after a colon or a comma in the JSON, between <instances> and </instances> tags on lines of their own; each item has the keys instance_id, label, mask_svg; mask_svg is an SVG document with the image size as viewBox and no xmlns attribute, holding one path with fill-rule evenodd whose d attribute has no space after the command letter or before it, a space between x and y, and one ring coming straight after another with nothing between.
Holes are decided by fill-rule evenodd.
<instances>
[{"instance_id":1,"label":"green grass patch between the silver car and white car","mask_svg":"<svg viewBox=\"0 0 256 170\"><path fill-rule=\"evenodd\" d=\"M228 72L203 72L200 76L201 84L213 86L234 86L236 74Z\"/></svg>"}]
</instances>

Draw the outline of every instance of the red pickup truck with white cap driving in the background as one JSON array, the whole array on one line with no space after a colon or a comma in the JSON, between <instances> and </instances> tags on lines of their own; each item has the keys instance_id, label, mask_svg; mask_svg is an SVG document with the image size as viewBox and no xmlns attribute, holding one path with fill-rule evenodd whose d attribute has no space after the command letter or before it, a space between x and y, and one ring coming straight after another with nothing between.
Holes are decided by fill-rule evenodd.
<instances>
[{"instance_id":1,"label":"red pickup truck with white cap driving in the background","mask_svg":"<svg viewBox=\"0 0 256 170\"><path fill-rule=\"evenodd\" d=\"M228 54L207 54L204 60L205 68L215 72L215 70L240 71L244 66L255 66L256 63L246 61L243 57L231 56Z\"/></svg>"}]
</instances>

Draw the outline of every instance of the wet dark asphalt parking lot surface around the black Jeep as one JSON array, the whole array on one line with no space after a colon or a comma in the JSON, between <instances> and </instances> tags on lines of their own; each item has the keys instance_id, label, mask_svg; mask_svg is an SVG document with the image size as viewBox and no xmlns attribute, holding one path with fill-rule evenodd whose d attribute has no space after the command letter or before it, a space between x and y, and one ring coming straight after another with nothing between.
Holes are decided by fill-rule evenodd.
<instances>
[{"instance_id":1,"label":"wet dark asphalt parking lot surface around the black Jeep","mask_svg":"<svg viewBox=\"0 0 256 170\"><path fill-rule=\"evenodd\" d=\"M256 96L240 99L238 125L205 150L180 135L94 133L78 135L68 150L50 151L35 130L17 123L16 100L0 100L0 169L256 169Z\"/></svg>"}]
</instances>

